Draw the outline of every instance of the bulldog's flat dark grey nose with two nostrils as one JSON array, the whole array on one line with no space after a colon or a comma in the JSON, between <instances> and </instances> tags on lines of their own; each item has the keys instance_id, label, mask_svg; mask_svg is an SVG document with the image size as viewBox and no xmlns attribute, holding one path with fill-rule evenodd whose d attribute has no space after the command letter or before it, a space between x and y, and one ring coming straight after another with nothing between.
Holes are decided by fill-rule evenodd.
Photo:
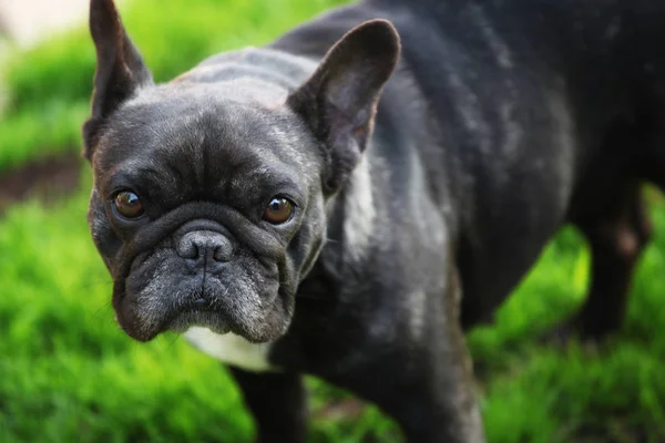
<instances>
[{"instance_id":1,"label":"bulldog's flat dark grey nose with two nostrils","mask_svg":"<svg viewBox=\"0 0 665 443\"><path fill-rule=\"evenodd\" d=\"M177 255L195 260L197 265L219 264L233 257L233 244L224 235L213 230L187 233L176 245Z\"/></svg>"}]
</instances>

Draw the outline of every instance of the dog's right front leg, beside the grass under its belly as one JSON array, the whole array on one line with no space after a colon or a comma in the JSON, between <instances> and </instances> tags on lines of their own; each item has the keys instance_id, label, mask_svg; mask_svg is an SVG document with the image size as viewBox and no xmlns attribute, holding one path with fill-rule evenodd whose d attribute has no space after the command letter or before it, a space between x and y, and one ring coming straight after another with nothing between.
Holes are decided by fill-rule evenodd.
<instances>
[{"instance_id":1,"label":"dog's right front leg, beside the grass under its belly","mask_svg":"<svg viewBox=\"0 0 665 443\"><path fill-rule=\"evenodd\" d=\"M457 276L444 295L432 289L410 301L416 298L423 302L423 309L411 312L421 316L412 328L419 332L405 333L400 344L382 348L386 352L361 371L332 381L392 416L409 443L482 443L472 364L459 322Z\"/></svg>"}]
</instances>

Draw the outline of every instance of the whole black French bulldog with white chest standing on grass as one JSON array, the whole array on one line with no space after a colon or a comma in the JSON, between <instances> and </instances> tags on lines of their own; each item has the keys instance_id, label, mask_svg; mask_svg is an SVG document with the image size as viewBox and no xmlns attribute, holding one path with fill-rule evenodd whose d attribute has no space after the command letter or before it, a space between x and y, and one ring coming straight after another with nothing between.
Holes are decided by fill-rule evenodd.
<instances>
[{"instance_id":1,"label":"whole black French bulldog with white chest standing on grass","mask_svg":"<svg viewBox=\"0 0 665 443\"><path fill-rule=\"evenodd\" d=\"M562 224L593 253L569 327L621 323L640 184L663 185L663 23L653 0L366 0L155 85L92 0L89 222L120 326L229 362L263 442L305 441L300 373L410 442L482 442L463 331Z\"/></svg>"}]
</instances>

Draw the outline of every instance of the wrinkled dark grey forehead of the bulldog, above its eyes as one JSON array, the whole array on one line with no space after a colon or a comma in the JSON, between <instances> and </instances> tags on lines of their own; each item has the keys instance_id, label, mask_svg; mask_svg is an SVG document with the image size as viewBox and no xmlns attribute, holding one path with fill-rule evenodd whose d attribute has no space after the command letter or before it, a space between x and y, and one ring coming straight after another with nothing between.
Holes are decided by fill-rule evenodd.
<instances>
[{"instance_id":1,"label":"wrinkled dark grey forehead of the bulldog, above its eyes","mask_svg":"<svg viewBox=\"0 0 665 443\"><path fill-rule=\"evenodd\" d=\"M172 199L202 198L264 182L308 185L303 181L316 178L317 150L295 115L228 95L205 87L142 91L110 119L100 141L93 158L105 179L100 190L125 181Z\"/></svg>"}]
</instances>

